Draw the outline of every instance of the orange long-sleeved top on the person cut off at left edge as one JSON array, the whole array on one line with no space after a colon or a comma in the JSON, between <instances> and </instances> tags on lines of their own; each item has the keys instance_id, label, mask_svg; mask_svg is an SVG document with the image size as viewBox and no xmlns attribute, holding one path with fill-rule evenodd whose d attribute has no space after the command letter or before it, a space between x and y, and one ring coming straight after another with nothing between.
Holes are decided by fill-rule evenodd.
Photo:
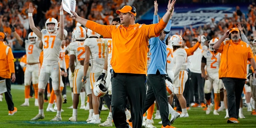
<instances>
[{"instance_id":1,"label":"orange long-sleeved top on the person cut off at left edge","mask_svg":"<svg viewBox=\"0 0 256 128\"><path fill-rule=\"evenodd\" d=\"M4 45L4 42L0 41L0 77L10 79L11 73L15 73L14 57L10 47L8 48L8 51L6 51L7 47L8 46ZM8 54L6 56L7 52Z\"/></svg>"}]
</instances>

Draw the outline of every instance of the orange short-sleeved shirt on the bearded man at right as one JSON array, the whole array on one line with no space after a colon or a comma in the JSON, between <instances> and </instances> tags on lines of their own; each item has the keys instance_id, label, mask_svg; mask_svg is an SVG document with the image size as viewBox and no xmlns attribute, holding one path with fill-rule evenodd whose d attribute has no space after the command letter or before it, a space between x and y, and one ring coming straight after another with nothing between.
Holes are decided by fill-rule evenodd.
<instances>
[{"instance_id":1,"label":"orange short-sleeved shirt on the bearded man at right","mask_svg":"<svg viewBox=\"0 0 256 128\"><path fill-rule=\"evenodd\" d=\"M217 51L222 55L219 78L246 79L247 60L254 57L249 44L246 44L240 39L238 43L228 40L222 42Z\"/></svg>"}]
</instances>

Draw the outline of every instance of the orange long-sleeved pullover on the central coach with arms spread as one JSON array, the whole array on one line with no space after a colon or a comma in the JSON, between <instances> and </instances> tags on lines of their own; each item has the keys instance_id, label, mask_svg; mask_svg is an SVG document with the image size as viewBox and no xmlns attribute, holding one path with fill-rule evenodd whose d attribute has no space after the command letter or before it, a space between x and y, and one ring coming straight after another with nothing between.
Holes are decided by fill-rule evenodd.
<instances>
[{"instance_id":1,"label":"orange long-sleeved pullover on the central coach with arms spread","mask_svg":"<svg viewBox=\"0 0 256 128\"><path fill-rule=\"evenodd\" d=\"M101 25L87 21L89 28L104 38L112 38L112 59L110 64L116 73L146 74L148 40L159 36L167 23L134 24L128 28L118 25Z\"/></svg>"}]
</instances>

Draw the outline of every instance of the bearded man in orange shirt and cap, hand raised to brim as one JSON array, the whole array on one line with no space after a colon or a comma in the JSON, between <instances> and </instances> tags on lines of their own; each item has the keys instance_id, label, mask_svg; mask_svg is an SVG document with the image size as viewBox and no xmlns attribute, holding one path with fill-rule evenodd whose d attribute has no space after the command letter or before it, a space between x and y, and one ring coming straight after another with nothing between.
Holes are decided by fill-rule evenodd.
<instances>
[{"instance_id":1,"label":"bearded man in orange shirt and cap, hand raised to brim","mask_svg":"<svg viewBox=\"0 0 256 128\"><path fill-rule=\"evenodd\" d=\"M225 32L213 48L221 53L219 78L222 79L228 96L227 123L239 123L238 112L241 94L246 81L247 60L250 61L254 71L255 60L249 44L240 39L241 33L238 28L232 28ZM225 40L229 38L229 40ZM225 41L224 41L225 40Z\"/></svg>"}]
</instances>

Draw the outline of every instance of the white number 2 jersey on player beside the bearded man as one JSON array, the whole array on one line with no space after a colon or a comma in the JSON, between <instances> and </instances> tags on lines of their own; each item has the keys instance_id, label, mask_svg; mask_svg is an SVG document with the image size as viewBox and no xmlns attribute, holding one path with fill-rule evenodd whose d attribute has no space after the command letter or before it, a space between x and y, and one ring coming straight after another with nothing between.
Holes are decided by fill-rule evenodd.
<instances>
[{"instance_id":1,"label":"white number 2 jersey on player beside the bearded man","mask_svg":"<svg viewBox=\"0 0 256 128\"><path fill-rule=\"evenodd\" d=\"M208 75L218 74L219 72L219 60L220 53L210 50L204 50L203 52L204 58L206 58L206 71Z\"/></svg>"}]
</instances>

